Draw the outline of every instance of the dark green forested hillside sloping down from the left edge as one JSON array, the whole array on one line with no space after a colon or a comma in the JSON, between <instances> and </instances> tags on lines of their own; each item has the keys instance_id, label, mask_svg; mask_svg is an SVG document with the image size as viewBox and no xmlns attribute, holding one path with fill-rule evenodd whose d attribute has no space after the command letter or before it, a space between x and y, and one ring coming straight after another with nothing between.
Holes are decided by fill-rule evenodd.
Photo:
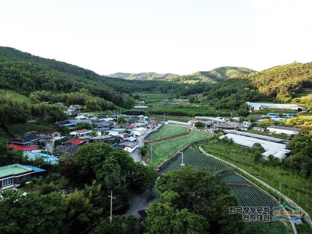
<instances>
[{"instance_id":1,"label":"dark green forested hillside sloping down from the left edge","mask_svg":"<svg viewBox=\"0 0 312 234\"><path fill-rule=\"evenodd\" d=\"M162 80L139 81L104 77L93 71L60 62L44 59L10 47L0 46L1 88L15 90L29 96L38 90L52 92L78 92L85 88L93 96L127 107L125 94L133 92L161 92L188 95L202 90L194 85L185 86Z\"/></svg>"}]
</instances>

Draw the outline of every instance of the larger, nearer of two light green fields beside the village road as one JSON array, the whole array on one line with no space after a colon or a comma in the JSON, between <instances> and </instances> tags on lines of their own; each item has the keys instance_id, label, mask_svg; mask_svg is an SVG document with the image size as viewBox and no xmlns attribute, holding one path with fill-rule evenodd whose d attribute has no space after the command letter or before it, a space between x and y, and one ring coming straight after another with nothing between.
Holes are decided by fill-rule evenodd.
<instances>
[{"instance_id":1,"label":"larger, nearer of two light green fields beside the village road","mask_svg":"<svg viewBox=\"0 0 312 234\"><path fill-rule=\"evenodd\" d=\"M153 144L152 160L151 157L149 157L148 164L152 166L159 165L166 159L174 156L178 150L184 148L186 145L197 140L211 139L212 137L213 135L211 134L193 130L186 136L156 142ZM151 145L148 145L147 148L149 152L151 152Z\"/></svg>"}]
</instances>

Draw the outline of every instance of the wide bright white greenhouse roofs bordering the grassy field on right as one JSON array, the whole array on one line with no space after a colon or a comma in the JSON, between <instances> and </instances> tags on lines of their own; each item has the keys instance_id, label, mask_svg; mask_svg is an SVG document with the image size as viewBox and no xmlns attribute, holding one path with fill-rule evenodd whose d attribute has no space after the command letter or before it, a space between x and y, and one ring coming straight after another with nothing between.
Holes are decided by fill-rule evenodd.
<instances>
[{"instance_id":1,"label":"wide bright white greenhouse roofs bordering the grassy field on right","mask_svg":"<svg viewBox=\"0 0 312 234\"><path fill-rule=\"evenodd\" d=\"M270 151L269 155L273 155L274 157L279 158L279 160L284 159L286 157L286 155L291 153L290 150L286 149L286 147L287 147L286 144L276 143L276 142L272 142L272 141L267 141L267 140L263 140L263 139L257 139L257 138L253 138L253 137L242 136L242 135L235 135L232 133L228 133L228 134L223 135L219 138L222 139L224 137L228 137L228 138L233 139L235 144L247 146L250 148L253 147L254 143L259 143L259 144L261 144L261 146L264 148L264 150L266 152ZM264 154L263 157L266 158L268 153L264 152L263 154Z\"/></svg>"}]
</instances>

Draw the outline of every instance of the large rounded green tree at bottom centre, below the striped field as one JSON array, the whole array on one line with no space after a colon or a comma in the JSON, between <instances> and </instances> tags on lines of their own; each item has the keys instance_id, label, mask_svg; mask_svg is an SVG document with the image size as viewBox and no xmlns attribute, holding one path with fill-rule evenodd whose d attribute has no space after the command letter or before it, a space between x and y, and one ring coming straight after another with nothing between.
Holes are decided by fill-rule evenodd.
<instances>
[{"instance_id":1,"label":"large rounded green tree at bottom centre, below the striped field","mask_svg":"<svg viewBox=\"0 0 312 234\"><path fill-rule=\"evenodd\" d=\"M237 233L243 225L241 216L229 214L229 207L237 205L235 196L209 170L182 167L168 172L157 181L156 190L177 193L176 208L206 217L211 233Z\"/></svg>"}]
</instances>

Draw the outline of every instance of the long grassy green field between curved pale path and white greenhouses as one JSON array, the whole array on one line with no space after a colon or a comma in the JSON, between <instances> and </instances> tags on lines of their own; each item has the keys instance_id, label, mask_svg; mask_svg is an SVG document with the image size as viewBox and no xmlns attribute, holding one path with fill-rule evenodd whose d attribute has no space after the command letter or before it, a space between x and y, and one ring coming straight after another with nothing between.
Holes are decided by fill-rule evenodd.
<instances>
[{"instance_id":1,"label":"long grassy green field between curved pale path and white greenhouses","mask_svg":"<svg viewBox=\"0 0 312 234\"><path fill-rule=\"evenodd\" d=\"M251 148L218 140L202 144L201 147L207 153L233 163L277 190L279 183L281 183L281 193L295 201L310 216L312 215L311 180L297 175L290 169L256 164L254 162L254 150Z\"/></svg>"}]
</instances>

